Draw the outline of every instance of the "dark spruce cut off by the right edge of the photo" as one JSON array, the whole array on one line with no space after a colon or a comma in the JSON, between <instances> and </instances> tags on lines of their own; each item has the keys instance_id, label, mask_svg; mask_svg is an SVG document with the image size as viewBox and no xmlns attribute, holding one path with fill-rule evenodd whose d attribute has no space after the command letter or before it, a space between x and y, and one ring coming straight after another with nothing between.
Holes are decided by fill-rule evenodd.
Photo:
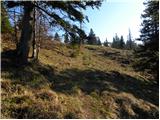
<instances>
[{"instance_id":1,"label":"dark spruce cut off by the right edge of the photo","mask_svg":"<svg viewBox=\"0 0 160 120\"><path fill-rule=\"evenodd\" d=\"M159 1L148 1L142 14L142 29L139 40L142 45L135 51L139 70L159 77Z\"/></svg>"}]
</instances>

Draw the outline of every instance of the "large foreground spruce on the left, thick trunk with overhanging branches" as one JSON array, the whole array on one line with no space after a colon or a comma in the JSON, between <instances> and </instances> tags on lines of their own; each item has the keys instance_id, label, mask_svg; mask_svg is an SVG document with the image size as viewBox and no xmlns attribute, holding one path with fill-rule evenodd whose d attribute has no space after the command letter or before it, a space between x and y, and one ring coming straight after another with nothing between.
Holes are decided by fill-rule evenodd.
<instances>
[{"instance_id":1,"label":"large foreground spruce on the left, thick trunk with overhanging branches","mask_svg":"<svg viewBox=\"0 0 160 120\"><path fill-rule=\"evenodd\" d=\"M21 64L28 62L30 42L33 33L33 12L36 8L43 13L44 18L54 27L57 24L72 37L84 36L85 32L75 22L83 23L87 20L82 10L88 7L99 8L102 1L5 1L7 7L23 7L22 32L17 50ZM60 10L57 14L57 10ZM66 14L64 14L66 13ZM66 19L67 18L67 19Z\"/></svg>"}]
</instances>

